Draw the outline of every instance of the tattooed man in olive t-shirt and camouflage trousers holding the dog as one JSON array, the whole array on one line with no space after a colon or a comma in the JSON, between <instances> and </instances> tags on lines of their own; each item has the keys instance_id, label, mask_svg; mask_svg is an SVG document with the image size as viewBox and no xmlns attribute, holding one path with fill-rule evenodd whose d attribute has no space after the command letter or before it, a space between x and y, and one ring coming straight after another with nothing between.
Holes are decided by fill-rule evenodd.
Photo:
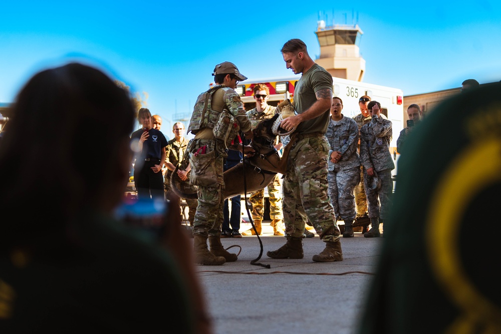
<instances>
[{"instance_id":1,"label":"tattooed man in olive t-shirt and camouflage trousers holding the dog","mask_svg":"<svg viewBox=\"0 0 501 334\"><path fill-rule=\"evenodd\" d=\"M308 55L299 39L288 41L282 48L288 69L303 75L296 84L295 116L285 118L281 127L295 131L284 179L283 211L287 242L277 250L267 252L271 258L303 258L302 236L306 217L315 227L324 250L313 256L315 262L342 261L340 232L334 208L327 195L327 155L329 143L325 137L332 104L332 76Z\"/></svg>"}]
</instances>

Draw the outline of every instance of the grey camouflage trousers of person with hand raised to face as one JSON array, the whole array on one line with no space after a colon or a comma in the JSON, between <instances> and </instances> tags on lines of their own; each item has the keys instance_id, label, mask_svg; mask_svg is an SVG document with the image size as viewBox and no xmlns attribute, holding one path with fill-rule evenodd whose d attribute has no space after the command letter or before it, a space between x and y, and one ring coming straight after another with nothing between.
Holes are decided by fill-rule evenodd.
<instances>
[{"instance_id":1,"label":"grey camouflage trousers of person with hand raised to face","mask_svg":"<svg viewBox=\"0 0 501 334\"><path fill-rule=\"evenodd\" d=\"M369 204L369 217L379 217L380 221L386 220L389 217L391 205L391 196L393 194L393 179L391 178L391 170L385 169L377 172L377 176L381 180L379 190L369 190L367 188L367 172L364 172L365 189L367 190L367 203Z\"/></svg>"}]
</instances>

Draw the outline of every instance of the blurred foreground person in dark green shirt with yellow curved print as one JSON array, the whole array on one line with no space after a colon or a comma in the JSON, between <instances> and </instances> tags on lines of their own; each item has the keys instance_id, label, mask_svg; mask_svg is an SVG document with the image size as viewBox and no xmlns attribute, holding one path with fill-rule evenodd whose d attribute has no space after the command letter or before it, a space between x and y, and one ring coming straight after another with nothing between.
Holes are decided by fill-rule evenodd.
<instances>
[{"instance_id":1,"label":"blurred foreground person in dark green shirt with yellow curved print","mask_svg":"<svg viewBox=\"0 0 501 334\"><path fill-rule=\"evenodd\" d=\"M357 333L501 333L499 235L475 233L499 223L500 91L457 94L413 130Z\"/></svg>"}]
</instances>

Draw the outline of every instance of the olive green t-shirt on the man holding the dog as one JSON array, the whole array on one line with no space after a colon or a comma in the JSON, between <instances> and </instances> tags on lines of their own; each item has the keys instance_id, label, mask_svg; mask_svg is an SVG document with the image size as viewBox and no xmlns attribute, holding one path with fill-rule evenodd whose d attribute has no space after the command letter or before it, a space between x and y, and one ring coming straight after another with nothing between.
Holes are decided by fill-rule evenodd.
<instances>
[{"instance_id":1,"label":"olive green t-shirt on the man holding the dog","mask_svg":"<svg viewBox=\"0 0 501 334\"><path fill-rule=\"evenodd\" d=\"M332 76L324 68L315 64L306 73L303 73L294 90L294 107L298 114L308 110L315 102L315 95L321 89L332 90ZM329 126L330 109L326 109L322 115L302 122L297 131L302 134L321 132L326 133Z\"/></svg>"}]
</instances>

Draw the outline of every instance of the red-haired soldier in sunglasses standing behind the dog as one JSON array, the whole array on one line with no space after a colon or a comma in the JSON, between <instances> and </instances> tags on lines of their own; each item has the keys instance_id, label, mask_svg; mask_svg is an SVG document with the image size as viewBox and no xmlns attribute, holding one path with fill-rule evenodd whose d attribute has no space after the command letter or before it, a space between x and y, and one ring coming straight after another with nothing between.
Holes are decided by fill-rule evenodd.
<instances>
[{"instance_id":1,"label":"red-haired soldier in sunglasses standing behind the dog","mask_svg":"<svg viewBox=\"0 0 501 334\"><path fill-rule=\"evenodd\" d=\"M255 129L258 124L275 116L276 107L267 104L270 96L270 89L265 84L254 86L254 99L256 100L256 108L247 111L247 117ZM274 143L275 148L280 150L282 143L277 138ZM284 235L282 228L282 185L280 182L280 174L275 175L275 178L268 185L268 194L270 196L270 218L272 219L273 235ZM250 194L249 202L252 203L252 219L258 234L261 235L261 222L263 221L264 206L265 206L265 189L261 189ZM242 235L256 235L253 228L244 231Z\"/></svg>"}]
</instances>

